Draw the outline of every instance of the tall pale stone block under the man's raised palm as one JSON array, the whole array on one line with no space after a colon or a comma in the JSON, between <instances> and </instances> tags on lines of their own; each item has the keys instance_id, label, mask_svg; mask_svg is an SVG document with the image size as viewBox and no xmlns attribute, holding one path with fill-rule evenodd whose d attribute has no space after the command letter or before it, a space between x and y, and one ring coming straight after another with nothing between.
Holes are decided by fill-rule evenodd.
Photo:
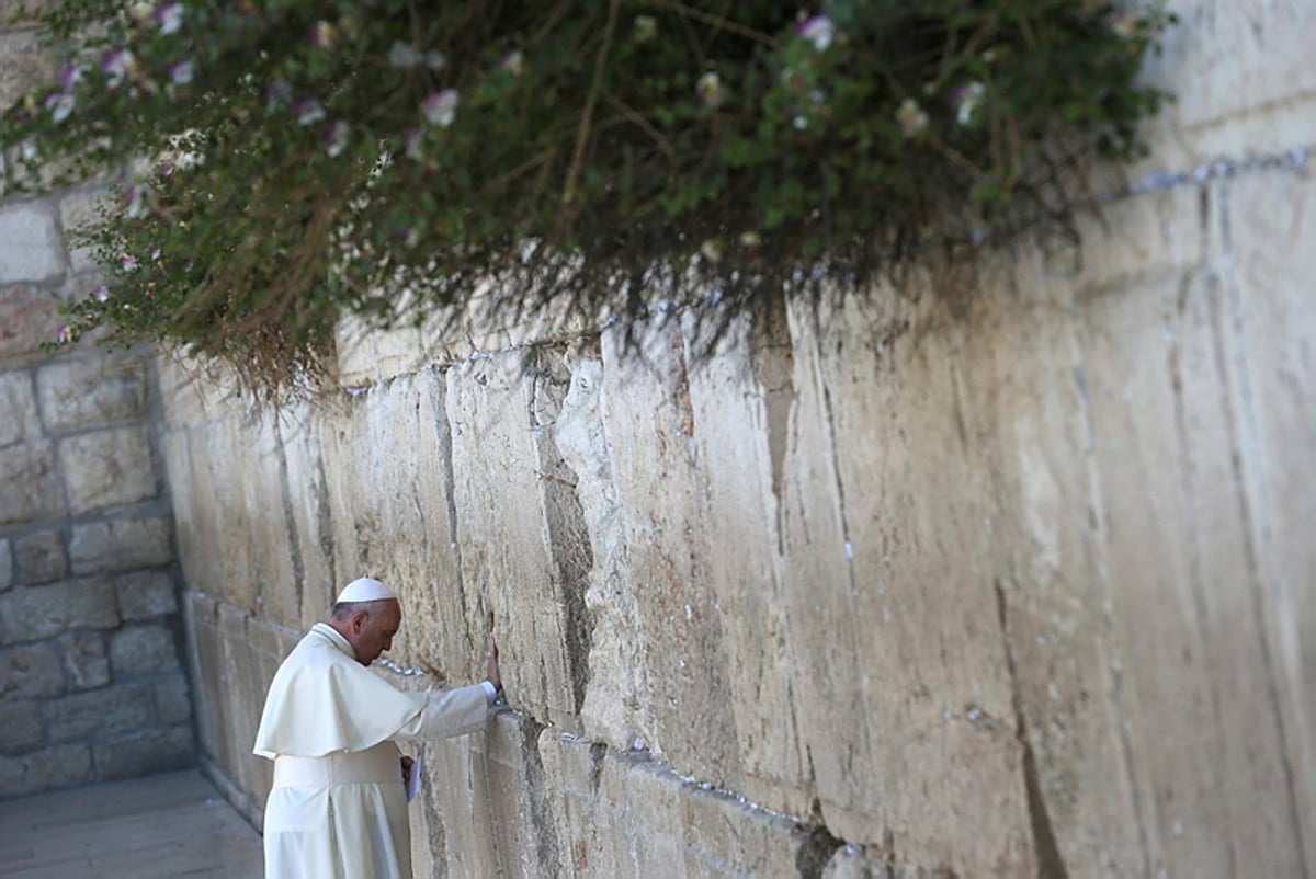
<instances>
[{"instance_id":1,"label":"tall pale stone block under the man's raised palm","mask_svg":"<svg viewBox=\"0 0 1316 879\"><path fill-rule=\"evenodd\" d=\"M558 472L553 443L541 442L546 416L537 399L561 382L525 358L515 351L447 372L461 582L467 613L475 612L471 630L483 633L492 613L507 653L533 658L509 665L512 699L570 729L587 676L583 620L571 613L583 584L559 555L572 547L555 541L578 532L561 520L572 511L551 496L555 480L570 476Z\"/></svg>"}]
</instances>

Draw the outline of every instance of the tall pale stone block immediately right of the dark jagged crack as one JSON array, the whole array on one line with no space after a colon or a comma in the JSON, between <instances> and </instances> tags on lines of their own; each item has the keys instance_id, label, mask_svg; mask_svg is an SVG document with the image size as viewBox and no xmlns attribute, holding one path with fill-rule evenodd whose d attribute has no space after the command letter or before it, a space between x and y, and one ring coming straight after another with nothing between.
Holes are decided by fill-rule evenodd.
<instances>
[{"instance_id":1,"label":"tall pale stone block immediately right of the dark jagged crack","mask_svg":"<svg viewBox=\"0 0 1316 879\"><path fill-rule=\"evenodd\" d=\"M626 546L621 588L634 591L636 616L616 618L617 611L604 607L607 595L590 607L596 630L622 626L621 637L641 650L647 693L632 699L649 700L653 728L644 743L686 771L734 784L741 780L736 715L725 711L734 672L704 561L716 533L707 499L721 475L700 455L703 425L695 421L679 326L646 333L641 351L624 353L616 333L603 347L601 413Z\"/></svg>"}]
</instances>

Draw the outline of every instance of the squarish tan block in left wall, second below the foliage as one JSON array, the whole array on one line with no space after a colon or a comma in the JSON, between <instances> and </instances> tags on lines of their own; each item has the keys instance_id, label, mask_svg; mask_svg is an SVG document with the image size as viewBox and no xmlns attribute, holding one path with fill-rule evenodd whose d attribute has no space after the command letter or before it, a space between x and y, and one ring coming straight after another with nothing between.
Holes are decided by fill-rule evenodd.
<instances>
[{"instance_id":1,"label":"squarish tan block in left wall, second below the foliage","mask_svg":"<svg viewBox=\"0 0 1316 879\"><path fill-rule=\"evenodd\" d=\"M155 496L145 428L83 433L59 442L70 512L88 513Z\"/></svg>"}]
</instances>

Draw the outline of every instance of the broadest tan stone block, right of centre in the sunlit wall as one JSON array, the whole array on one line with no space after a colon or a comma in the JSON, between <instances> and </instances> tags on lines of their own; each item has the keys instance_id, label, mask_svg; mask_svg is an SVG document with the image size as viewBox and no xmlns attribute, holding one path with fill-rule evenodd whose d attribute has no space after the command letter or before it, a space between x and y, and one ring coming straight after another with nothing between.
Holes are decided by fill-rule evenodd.
<instances>
[{"instance_id":1,"label":"broadest tan stone block, right of centre in the sunlit wall","mask_svg":"<svg viewBox=\"0 0 1316 879\"><path fill-rule=\"evenodd\" d=\"M987 483L948 367L959 339L929 330L915 345L904 334L929 317L900 303L879 291L791 314L784 576L808 682L800 734L837 837L891 834L929 868L1032 875Z\"/></svg>"}]
</instances>

